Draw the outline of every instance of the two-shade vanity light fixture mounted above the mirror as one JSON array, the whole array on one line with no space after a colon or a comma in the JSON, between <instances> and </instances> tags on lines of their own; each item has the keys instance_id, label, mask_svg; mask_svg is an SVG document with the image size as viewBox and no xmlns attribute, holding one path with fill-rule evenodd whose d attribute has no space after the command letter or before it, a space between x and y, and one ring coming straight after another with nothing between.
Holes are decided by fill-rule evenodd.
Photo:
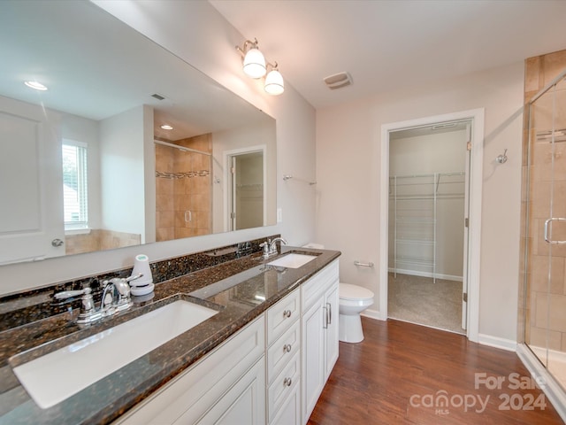
<instances>
[{"instance_id":1,"label":"two-shade vanity light fixture mounted above the mirror","mask_svg":"<svg viewBox=\"0 0 566 425\"><path fill-rule=\"evenodd\" d=\"M285 91L283 76L279 73L277 62L271 64L264 58L264 54L257 47L257 39L251 42L246 40L242 47L236 46L242 57L243 71L250 78L262 78L265 73L264 90L270 95L280 95ZM267 72L269 70L269 73Z\"/></svg>"}]
</instances>

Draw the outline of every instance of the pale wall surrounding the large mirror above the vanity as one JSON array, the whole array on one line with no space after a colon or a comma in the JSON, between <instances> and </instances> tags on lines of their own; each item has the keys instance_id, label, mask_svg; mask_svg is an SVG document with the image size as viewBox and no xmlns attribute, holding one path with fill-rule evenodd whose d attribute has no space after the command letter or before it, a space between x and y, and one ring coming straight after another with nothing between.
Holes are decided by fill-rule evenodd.
<instances>
[{"instance_id":1,"label":"pale wall surrounding the large mirror above the vanity","mask_svg":"<svg viewBox=\"0 0 566 425\"><path fill-rule=\"evenodd\" d=\"M290 244L312 240L315 191L308 185L284 186L282 176L294 174L314 180L315 111L288 82L285 93L270 97L261 88L261 81L244 76L234 46L253 35L238 33L208 2L95 3L277 120L277 204L283 211L283 222L267 228L0 267L0 295L132 266L134 256L140 252L153 261L275 233L286 237Z\"/></svg>"}]
</instances>

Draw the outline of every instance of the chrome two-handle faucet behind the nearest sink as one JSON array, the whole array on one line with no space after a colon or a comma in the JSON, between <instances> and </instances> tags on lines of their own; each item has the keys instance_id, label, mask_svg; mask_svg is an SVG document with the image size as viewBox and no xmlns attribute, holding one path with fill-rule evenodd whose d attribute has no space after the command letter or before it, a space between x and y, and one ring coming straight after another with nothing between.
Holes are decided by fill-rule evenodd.
<instances>
[{"instance_id":1,"label":"chrome two-handle faucet behind the nearest sink","mask_svg":"<svg viewBox=\"0 0 566 425\"><path fill-rule=\"evenodd\" d=\"M79 318L77 323L86 324L99 321L103 317L111 316L130 308L134 303L130 298L130 285L127 282L139 279L141 274L126 278L114 277L110 281L103 281L103 298L100 301L100 307L96 308L95 300L92 297L90 287L82 290L65 290L57 292L53 297L56 299L66 299L81 296L82 305L80 306ZM108 296L111 295L111 300Z\"/></svg>"}]
</instances>

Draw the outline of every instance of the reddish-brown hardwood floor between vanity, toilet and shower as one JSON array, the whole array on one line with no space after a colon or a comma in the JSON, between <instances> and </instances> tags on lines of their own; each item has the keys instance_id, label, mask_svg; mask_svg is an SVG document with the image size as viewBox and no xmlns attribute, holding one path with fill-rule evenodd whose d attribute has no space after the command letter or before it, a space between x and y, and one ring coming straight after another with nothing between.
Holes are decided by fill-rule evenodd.
<instances>
[{"instance_id":1,"label":"reddish-brown hardwood floor between vanity, toilet and shower","mask_svg":"<svg viewBox=\"0 0 566 425\"><path fill-rule=\"evenodd\" d=\"M403 321L362 323L362 343L340 343L310 425L563 423L541 390L516 389L535 385L514 352Z\"/></svg>"}]
</instances>

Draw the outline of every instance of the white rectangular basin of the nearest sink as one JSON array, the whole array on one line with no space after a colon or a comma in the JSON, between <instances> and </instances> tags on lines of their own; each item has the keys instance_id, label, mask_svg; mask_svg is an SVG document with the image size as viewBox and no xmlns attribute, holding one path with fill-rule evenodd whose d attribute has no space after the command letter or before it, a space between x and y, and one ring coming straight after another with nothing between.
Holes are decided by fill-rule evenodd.
<instances>
[{"instance_id":1,"label":"white rectangular basin of the nearest sink","mask_svg":"<svg viewBox=\"0 0 566 425\"><path fill-rule=\"evenodd\" d=\"M147 314L14 367L35 403L46 409L111 375L218 313L174 301Z\"/></svg>"}]
</instances>

